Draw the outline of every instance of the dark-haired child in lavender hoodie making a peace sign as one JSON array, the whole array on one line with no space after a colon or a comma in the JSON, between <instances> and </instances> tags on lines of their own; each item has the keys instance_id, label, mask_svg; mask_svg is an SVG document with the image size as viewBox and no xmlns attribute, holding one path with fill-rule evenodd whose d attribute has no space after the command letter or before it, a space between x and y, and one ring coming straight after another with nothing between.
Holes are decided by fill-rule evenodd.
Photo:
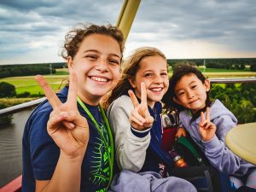
<instances>
[{"instance_id":1,"label":"dark-haired child in lavender hoodie making a peace sign","mask_svg":"<svg viewBox=\"0 0 256 192\"><path fill-rule=\"evenodd\" d=\"M241 160L225 145L226 133L236 126L237 119L220 101L210 101L209 90L209 80L198 69L177 67L163 102L177 108L181 126L189 132L212 166L232 175L230 178L236 188L241 185L256 188L255 166ZM177 135L183 135L182 128L178 129Z\"/></svg>"}]
</instances>

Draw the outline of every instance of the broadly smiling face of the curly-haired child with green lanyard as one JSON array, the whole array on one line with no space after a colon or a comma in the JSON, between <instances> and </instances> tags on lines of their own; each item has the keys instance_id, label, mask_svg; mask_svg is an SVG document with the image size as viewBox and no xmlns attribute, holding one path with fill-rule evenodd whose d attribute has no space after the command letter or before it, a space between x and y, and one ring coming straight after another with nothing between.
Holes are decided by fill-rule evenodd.
<instances>
[{"instance_id":1,"label":"broadly smiling face of the curly-haired child with green lanyard","mask_svg":"<svg viewBox=\"0 0 256 192\"><path fill-rule=\"evenodd\" d=\"M76 55L68 57L78 77L78 95L82 101L97 105L102 96L118 83L121 52L118 42L102 34L84 38Z\"/></svg>"}]
</instances>

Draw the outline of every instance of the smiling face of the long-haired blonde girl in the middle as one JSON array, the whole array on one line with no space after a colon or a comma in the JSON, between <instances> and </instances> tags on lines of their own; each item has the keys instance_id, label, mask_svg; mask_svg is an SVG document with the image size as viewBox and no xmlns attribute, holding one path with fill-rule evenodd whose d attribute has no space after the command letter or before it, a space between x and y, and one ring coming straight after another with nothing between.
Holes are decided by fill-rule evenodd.
<instances>
[{"instance_id":1,"label":"smiling face of the long-haired blonde girl in the middle","mask_svg":"<svg viewBox=\"0 0 256 192\"><path fill-rule=\"evenodd\" d=\"M129 81L138 98L141 96L141 83L145 83L148 106L153 108L154 102L160 102L169 86L166 60L159 55L143 58L135 78Z\"/></svg>"}]
</instances>

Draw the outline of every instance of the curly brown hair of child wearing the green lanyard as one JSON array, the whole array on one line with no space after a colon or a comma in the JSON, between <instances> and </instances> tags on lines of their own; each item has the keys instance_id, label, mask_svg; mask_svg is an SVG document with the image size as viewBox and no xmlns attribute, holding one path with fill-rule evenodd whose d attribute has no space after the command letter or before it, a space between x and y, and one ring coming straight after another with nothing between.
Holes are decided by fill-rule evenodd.
<instances>
[{"instance_id":1,"label":"curly brown hair of child wearing the green lanyard","mask_svg":"<svg viewBox=\"0 0 256 192\"><path fill-rule=\"evenodd\" d=\"M110 24L102 26L95 24L78 24L78 26L71 29L65 36L61 56L65 60L67 60L68 56L73 58L78 52L79 46L84 38L88 37L90 34L102 34L114 38L119 44L121 54L123 54L125 45L124 36L117 27Z\"/></svg>"}]
</instances>

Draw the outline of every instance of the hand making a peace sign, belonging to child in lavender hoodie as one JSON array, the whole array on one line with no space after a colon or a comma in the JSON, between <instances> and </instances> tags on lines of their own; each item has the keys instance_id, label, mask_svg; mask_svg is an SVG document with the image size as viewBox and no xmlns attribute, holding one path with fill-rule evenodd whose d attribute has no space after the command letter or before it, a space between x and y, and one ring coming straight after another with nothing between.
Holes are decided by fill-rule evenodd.
<instances>
[{"instance_id":1,"label":"hand making a peace sign, belonging to child in lavender hoodie","mask_svg":"<svg viewBox=\"0 0 256 192\"><path fill-rule=\"evenodd\" d=\"M199 124L199 133L201 136L201 139L204 142L207 142L209 140L212 139L212 137L215 136L215 132L216 132L216 125L214 125L211 121L210 121L210 109L207 108L207 119L205 118L205 115L203 112L201 112L201 122Z\"/></svg>"}]
</instances>

